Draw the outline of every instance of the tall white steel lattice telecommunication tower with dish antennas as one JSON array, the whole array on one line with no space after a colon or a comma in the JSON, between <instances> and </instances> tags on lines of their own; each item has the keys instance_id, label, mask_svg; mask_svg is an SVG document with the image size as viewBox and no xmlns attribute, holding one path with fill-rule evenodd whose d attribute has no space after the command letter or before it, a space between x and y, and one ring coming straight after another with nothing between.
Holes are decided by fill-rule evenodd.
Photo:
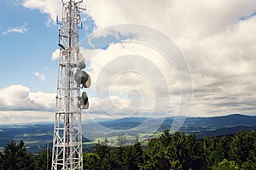
<instances>
[{"instance_id":1,"label":"tall white steel lattice telecommunication tower with dish antennas","mask_svg":"<svg viewBox=\"0 0 256 170\"><path fill-rule=\"evenodd\" d=\"M85 68L84 57L79 53L79 28L82 27L79 8L75 0L62 2L59 26L59 69L55 103L55 127L53 136L52 170L83 169L81 110L89 106L86 92L90 87L90 75Z\"/></svg>"}]
</instances>

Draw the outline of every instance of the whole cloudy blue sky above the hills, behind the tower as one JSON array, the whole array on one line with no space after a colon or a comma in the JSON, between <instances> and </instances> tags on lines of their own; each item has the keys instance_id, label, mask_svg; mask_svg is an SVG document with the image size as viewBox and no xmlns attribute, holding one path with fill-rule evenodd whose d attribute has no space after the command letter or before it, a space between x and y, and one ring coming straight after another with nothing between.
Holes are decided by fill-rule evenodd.
<instances>
[{"instance_id":1,"label":"whole cloudy blue sky above the hills, behind the tower","mask_svg":"<svg viewBox=\"0 0 256 170\"><path fill-rule=\"evenodd\" d=\"M92 79L84 119L256 116L254 0L81 6L80 51ZM0 8L0 124L53 122L61 0Z\"/></svg>"}]
</instances>

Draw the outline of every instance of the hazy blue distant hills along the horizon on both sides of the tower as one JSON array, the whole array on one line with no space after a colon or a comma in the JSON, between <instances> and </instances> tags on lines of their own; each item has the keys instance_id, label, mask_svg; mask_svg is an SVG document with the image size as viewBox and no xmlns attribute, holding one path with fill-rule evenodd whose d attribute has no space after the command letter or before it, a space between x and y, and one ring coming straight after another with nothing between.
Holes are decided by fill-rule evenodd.
<instances>
[{"instance_id":1,"label":"hazy blue distant hills along the horizon on both sides of the tower","mask_svg":"<svg viewBox=\"0 0 256 170\"><path fill-rule=\"evenodd\" d=\"M171 127L174 117L166 117L161 126L157 129L161 132ZM159 119L147 117L131 117L125 119L117 119L112 121L97 122L102 127L109 129L126 130L137 127L145 121L148 121L148 127L154 126ZM11 140L24 140L28 146L28 150L36 152L41 148L45 148L47 144L49 147L52 143L53 123L32 123L22 125L0 125L0 147L3 147ZM229 115L229 116L215 116L215 117L187 117L183 126L179 129L184 133L195 133L199 138L209 136L230 135L241 130L256 129L256 116L244 115ZM118 136L118 133L100 132L98 125L91 122L83 123L83 130L85 137L101 136L102 138L109 136ZM137 135L137 134L134 134ZM84 138L83 142L90 141Z\"/></svg>"}]
</instances>

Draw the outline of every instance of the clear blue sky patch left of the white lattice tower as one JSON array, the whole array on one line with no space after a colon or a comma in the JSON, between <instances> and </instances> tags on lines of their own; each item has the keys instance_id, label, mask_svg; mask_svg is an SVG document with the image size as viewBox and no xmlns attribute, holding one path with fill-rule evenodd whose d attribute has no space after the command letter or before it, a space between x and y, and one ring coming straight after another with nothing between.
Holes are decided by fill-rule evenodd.
<instances>
[{"instance_id":1,"label":"clear blue sky patch left of the white lattice tower","mask_svg":"<svg viewBox=\"0 0 256 170\"><path fill-rule=\"evenodd\" d=\"M47 16L38 10L15 5L15 1L1 1L0 44L1 88L21 84L32 91L55 92L56 63L51 53L57 48L57 26L45 26ZM24 26L24 33L8 32L9 28ZM40 81L34 73L45 75Z\"/></svg>"}]
</instances>

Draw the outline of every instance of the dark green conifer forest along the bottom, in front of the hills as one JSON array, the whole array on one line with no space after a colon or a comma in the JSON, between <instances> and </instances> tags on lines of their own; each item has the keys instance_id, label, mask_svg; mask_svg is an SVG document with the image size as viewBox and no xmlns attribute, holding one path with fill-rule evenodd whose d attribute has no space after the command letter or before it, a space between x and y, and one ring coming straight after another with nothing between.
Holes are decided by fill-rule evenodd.
<instances>
[{"instance_id":1,"label":"dark green conifer forest along the bottom, in front of the hills","mask_svg":"<svg viewBox=\"0 0 256 170\"><path fill-rule=\"evenodd\" d=\"M119 142L120 139L118 138ZM1 170L50 169L50 150L30 154L24 141L5 145L0 152ZM147 145L109 147L108 139L84 152L84 169L255 170L256 131L199 139L195 134L165 130Z\"/></svg>"}]
</instances>

